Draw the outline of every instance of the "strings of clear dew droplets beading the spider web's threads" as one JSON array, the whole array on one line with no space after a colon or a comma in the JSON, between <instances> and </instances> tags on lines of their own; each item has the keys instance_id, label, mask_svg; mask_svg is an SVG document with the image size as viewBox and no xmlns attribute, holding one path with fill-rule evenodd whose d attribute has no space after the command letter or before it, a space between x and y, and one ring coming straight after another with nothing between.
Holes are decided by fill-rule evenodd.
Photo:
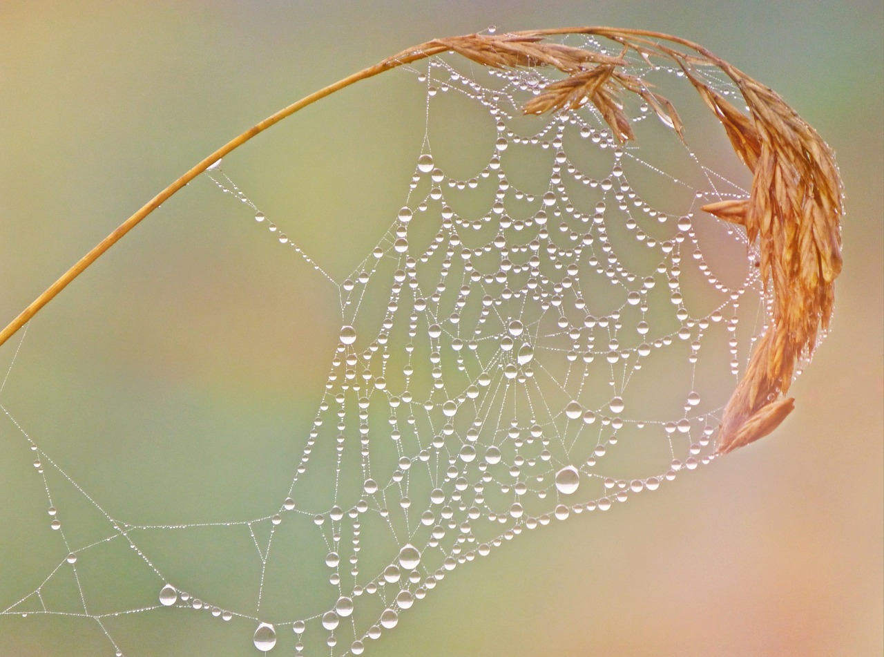
<instances>
[{"instance_id":1,"label":"strings of clear dew droplets beading the spider web's threads","mask_svg":"<svg viewBox=\"0 0 884 657\"><path fill-rule=\"evenodd\" d=\"M656 490L663 482L671 481L679 470L693 470L713 458L709 444L714 414L718 409L692 414L692 409L700 403L697 392L692 390L688 394L681 418L666 422L622 418L626 407L622 395L633 374L642 369L644 359L679 341L690 342L688 363L693 366L697 363L705 331L718 323L725 323L727 331L732 334L728 341L732 355L730 373L736 375L741 366L740 356L743 361L748 358L751 343L764 329L762 325L751 337L750 345L743 345L741 349L735 337L737 310L744 294L758 292L757 272L750 267L743 284L734 289L721 283L713 269L705 264L692 228L692 212L689 210L678 218L670 218L653 209L629 185L621 161L629 157L674 184L683 186L687 183L643 163L635 153L622 148L591 110L571 111L553 117L537 134L524 136L509 130L507 126L513 118L512 112L521 106L515 96L519 92L530 93L542 88L545 79L533 71L490 73L503 81L502 89L484 88L477 80L437 58L430 60L425 73L418 74L418 81L426 87L428 103L438 93L455 91L481 104L490 113L499 136L488 163L475 178L454 180L435 165L429 148L418 158L407 205L398 212L391 230L378 241L370 256L350 278L339 284L344 318L339 345L331 360L324 398L309 430L286 499L276 512L262 518L244 523L207 523L248 528L262 563L263 590L264 567L271 553L275 528L284 521L286 514L312 516L328 548L324 561L331 571L328 581L337 592L338 600L331 608L321 609L314 615L274 626L259 622L254 615L211 605L180 591L164 579L159 594L161 606L206 609L224 620L231 620L234 616L250 618L259 623L255 630L255 646L264 651L276 645L276 627L281 625L290 625L294 630L298 637L297 653L303 653L303 641L318 630L316 625L322 628L318 631L325 632L325 643L332 649L338 646L336 630L343 634L343 628L348 625L347 633L352 635L352 641L340 646L342 652L339 650L339 653L361 654L366 639L379 638L384 630L395 627L401 610L411 607L415 600L422 600L447 572L458 565L472 562L476 556L490 554L492 548L503 545L522 531L548 524L552 519L564 520L571 514L596 509L604 511L615 502L629 499L630 495ZM641 110L642 114L634 120L642 121L649 116L646 107ZM563 149L563 134L568 126L579 129L585 142L613 152L614 164L609 176L602 180L593 179L569 161ZM510 144L554 150L554 164L545 192L530 193L511 186L501 163L501 155ZM698 162L697 165L709 174L707 180L714 192L712 177L718 174ZM316 271L331 280L285 233L278 232L276 225L268 221L255 203L220 170L220 163L210 168L209 176L222 191L255 210L256 222L266 225L280 244L293 247ZM605 201L598 202L589 211L578 210L570 202L562 182L566 177L598 189ZM495 178L495 199L483 216L461 217L446 203L445 187L465 191ZM412 202L412 195L427 179L430 191L424 198ZM697 198L705 195L697 192ZM540 208L530 218L510 218L506 203L510 196L520 202L539 203ZM646 336L651 328L645 317L647 299L658 281L654 275L642 277L630 272L621 263L606 234L606 212L611 199L619 210L627 213L625 225L635 240L649 250L659 252L661 260L655 273L667 277L669 300L680 323L677 331L657 335L636 347L622 346L618 340L621 316L630 307L637 306L641 320L636 324L636 332ZM438 207L439 231L426 248L414 253L414 246L408 241L408 227L415 215L422 221L430 221L431 207ZM638 218L632 214L635 210L641 210ZM672 240L654 239L640 227L645 217L659 223L672 220L677 224L677 233ZM560 221L552 229L549 227L551 219ZM490 241L467 246L465 240L469 233L478 233L487 225L497 225L497 234ZM461 237L459 230L464 236ZM565 246L559 246L553 240L552 235L556 232L566 242ZM522 235L523 238L517 241L507 238L506 233ZM731 230L728 234L736 241L745 242L738 231ZM482 271L477 262L489 254L499 254L499 263L495 271ZM682 300L683 254L697 261L697 270L724 299L718 308L703 317L691 317ZM438 278L428 284L418 270L434 257L441 258L440 270ZM380 329L361 326L357 331L354 325L360 325L359 311L366 285L382 275L379 265L389 259L394 261L397 269L392 274L389 302ZM552 271L547 273L550 268L564 275L552 279ZM591 277L593 273L597 279ZM457 282L452 283L451 280L455 279ZM588 279L597 285L600 281L621 288L625 296L621 307L600 317L591 315L588 312L590 304L585 301L591 296ZM452 296L452 309L444 311L444 302ZM570 302L566 302L567 299ZM473 309L476 317L468 325L461 323L461 316L469 315L470 303L478 304L478 313L476 315L476 309ZM575 323L568 317L568 305L585 313L582 322ZM727 309L732 309L733 315L725 320L723 311ZM769 313L769 306L766 311ZM403 312L408 312L409 341L400 345L390 340L390 334L398 326L397 314ZM419 332L419 329L423 330ZM595 340L597 329L606 334L600 345ZM430 350L427 361L416 355L419 350L414 343L421 340L426 340ZM401 374L405 384L401 390L392 390L387 384L389 363L395 361L393 355L401 357L402 352ZM447 364L452 358L453 368ZM556 371L553 361L567 363L565 371ZM601 364L606 370L613 395L605 404L588 408L578 400L583 394L584 382L590 378L591 371L595 372L593 363ZM426 394L415 396L409 390L415 372L428 366L430 388ZM615 376L618 373L620 376ZM538 383L538 378L543 378L542 384ZM524 397L522 406L517 403L517 391L520 390ZM557 395L565 395L569 401L558 406L552 401ZM348 408L353 401L358 409L355 414L352 407ZM389 423L382 424L384 428L381 430L370 426L369 409L378 407L390 413ZM4 412L9 415L5 409ZM604 463L605 456L610 455L618 444L617 432L627 425L636 430L662 426L672 456L663 470L631 479L598 472L598 465ZM27 438L24 430L20 427L19 430L31 449L42 457L34 462L34 467L41 473L43 462L57 468L48 455L42 454ZM358 499L344 500L339 495L341 462L347 446L354 444L354 438L358 439L360 450L362 484ZM334 500L328 508L300 508L296 502L299 479L309 466L312 467L310 457L320 439L335 442ZM396 469L382 480L374 478L379 477L374 472L385 472L385 463L373 463L370 449L372 441L378 440L392 440L397 453ZM590 446L588 452L584 449L586 445ZM572 456L582 449L588 455L575 461ZM424 485L428 491L421 490L421 485L416 483L420 478L429 481L429 485ZM88 498L79 485L69 477L68 480ZM411 493L413 480L415 492ZM598 486L594 485L595 482ZM578 489L588 491L585 500L573 501ZM59 530L61 524L56 517L56 508L51 506L48 484L46 492L50 499L50 516L53 517L51 526ZM551 494L556 502L552 508L534 508L537 505L532 504L532 500L546 500ZM418 497L412 499L415 495ZM101 510L95 501L88 499ZM390 508L391 503L393 508ZM202 526L135 526L119 523L107 514L104 516L114 529L113 535L105 540L120 536L135 550L138 547L130 537L135 530ZM372 573L366 578L362 577L360 569L362 525L371 522L373 517L383 520L398 546L398 553L392 555L389 565L380 573ZM264 522L271 523L271 532L267 545L262 548L254 527ZM346 548L342 540L345 528L351 535ZM65 546L68 551L65 561L70 564L75 564L78 551L91 547L67 546L66 541ZM146 555L140 550L138 554L156 576L162 577ZM342 562L350 564L348 573L341 568ZM34 592L38 597L39 591L38 588ZM365 623L357 611L357 601L363 596L380 600L384 607L373 622ZM15 613L15 607L29 597L19 600L4 613ZM156 605L119 614L151 608ZM90 617L101 623L98 617ZM357 618L360 620L358 626ZM102 629L110 638L103 626ZM116 645L115 649L121 654Z\"/></svg>"}]
</instances>

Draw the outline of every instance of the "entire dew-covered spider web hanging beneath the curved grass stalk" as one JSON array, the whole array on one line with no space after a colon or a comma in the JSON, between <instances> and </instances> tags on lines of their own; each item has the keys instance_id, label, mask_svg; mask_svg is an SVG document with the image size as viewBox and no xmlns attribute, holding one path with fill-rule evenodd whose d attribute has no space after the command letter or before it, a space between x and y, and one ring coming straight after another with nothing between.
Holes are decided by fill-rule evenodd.
<instances>
[{"instance_id":1,"label":"entire dew-covered spider web hanging beneath the curved grass stalk","mask_svg":"<svg viewBox=\"0 0 884 657\"><path fill-rule=\"evenodd\" d=\"M592 39L582 45L602 49ZM720 411L770 302L743 231L698 208L745 190L701 163L640 101L625 100L638 145L623 145L591 106L522 117L548 72L459 69L444 57L407 68L426 95L422 152L390 229L346 280L333 280L283 234L222 163L206 173L339 294L339 344L315 419L293 427L304 448L289 490L248 520L127 523L105 513L3 407L33 450L64 551L3 615L94 621L118 655L127 646L117 645L107 618L143 614L162 626L167 615L196 610L248 627L258 650L279 642L299 654L361 654L448 573L522 531L604 512L712 461ZM637 58L630 73L649 82L681 75ZM705 75L721 94L737 95L714 71ZM490 121L493 138L474 148L434 133L446 97ZM662 156L645 153L653 133L663 135ZM484 159L476 166L470 157ZM523 167L531 157L540 164ZM105 539L68 543L45 470L101 511ZM141 549L152 532L206 524L254 542L261 581L253 608L217 604L198 580L171 581ZM285 585L269 574L274 558L301 536L312 547L299 559L324 560L310 564L323 581L288 607L272 603ZM156 582L150 599L88 613L90 592L78 579L80 611L43 600L54 577L76 572L80 555L100 559L118 541Z\"/></svg>"}]
</instances>

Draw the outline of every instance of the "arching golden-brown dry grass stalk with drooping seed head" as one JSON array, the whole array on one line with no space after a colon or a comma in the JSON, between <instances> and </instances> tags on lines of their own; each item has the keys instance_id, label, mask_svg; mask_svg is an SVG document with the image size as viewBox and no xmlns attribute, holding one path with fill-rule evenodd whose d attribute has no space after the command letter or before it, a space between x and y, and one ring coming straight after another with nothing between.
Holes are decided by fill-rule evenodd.
<instances>
[{"instance_id":1,"label":"arching golden-brown dry grass stalk with drooping seed head","mask_svg":"<svg viewBox=\"0 0 884 657\"><path fill-rule=\"evenodd\" d=\"M561 34L604 37L619 43L622 50L614 57L544 41L547 36ZM676 50L667 42L689 51ZM834 155L819 134L773 90L697 43L647 30L566 27L433 39L307 95L205 157L126 219L6 326L0 332L0 345L141 219L255 134L341 88L449 50L494 68L558 69L567 77L547 85L523 111L569 111L591 103L621 142L635 139L620 102L623 93L641 96L682 136L682 121L672 103L623 70L629 65L625 55L631 51L649 63L652 58L663 58L682 68L724 127L737 157L752 173L748 199L715 202L702 210L743 225L749 241L758 241L761 279L773 299L772 322L724 410L717 450L730 452L772 432L794 408L794 399L786 393L796 363L812 354L819 331L827 330L832 316L834 279L842 266L843 214L841 179ZM697 77L695 67L710 65L734 81L749 108L748 116Z\"/></svg>"}]
</instances>

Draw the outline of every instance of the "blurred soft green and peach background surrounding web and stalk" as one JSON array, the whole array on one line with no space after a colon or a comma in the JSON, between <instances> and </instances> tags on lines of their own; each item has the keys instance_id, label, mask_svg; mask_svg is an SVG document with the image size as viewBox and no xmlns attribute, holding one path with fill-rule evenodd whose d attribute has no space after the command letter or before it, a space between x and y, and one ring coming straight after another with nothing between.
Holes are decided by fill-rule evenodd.
<instances>
[{"instance_id":1,"label":"blurred soft green and peach background surrounding web and stalk","mask_svg":"<svg viewBox=\"0 0 884 657\"><path fill-rule=\"evenodd\" d=\"M779 91L835 149L844 179L834 331L772 437L455 571L370 653L879 655L880 2L4 0L0 323L232 135L408 45L492 24L677 34ZM419 108L367 89L289 119L230 164L268 214L292 215L289 232L337 275L400 204L423 134ZM218 519L254 513L262 486L277 491L287 477L286 432L316 408L335 341L328 288L229 219L218 195L200 194L170 202L52 302L4 389L34 440L112 512L163 516L171 500L182 516L211 516L223 500ZM0 348L3 371L17 344ZM172 426L178 438L156 438ZM209 438L179 439L188 431ZM0 435L6 607L34 588L58 546L27 446L8 423ZM241 482L235 495L231 482ZM209 545L194 549L194 567ZM126 605L124 591L106 594ZM200 623L121 647L255 653L241 632L209 643L214 630ZM93 623L4 616L0 654L112 649Z\"/></svg>"}]
</instances>

